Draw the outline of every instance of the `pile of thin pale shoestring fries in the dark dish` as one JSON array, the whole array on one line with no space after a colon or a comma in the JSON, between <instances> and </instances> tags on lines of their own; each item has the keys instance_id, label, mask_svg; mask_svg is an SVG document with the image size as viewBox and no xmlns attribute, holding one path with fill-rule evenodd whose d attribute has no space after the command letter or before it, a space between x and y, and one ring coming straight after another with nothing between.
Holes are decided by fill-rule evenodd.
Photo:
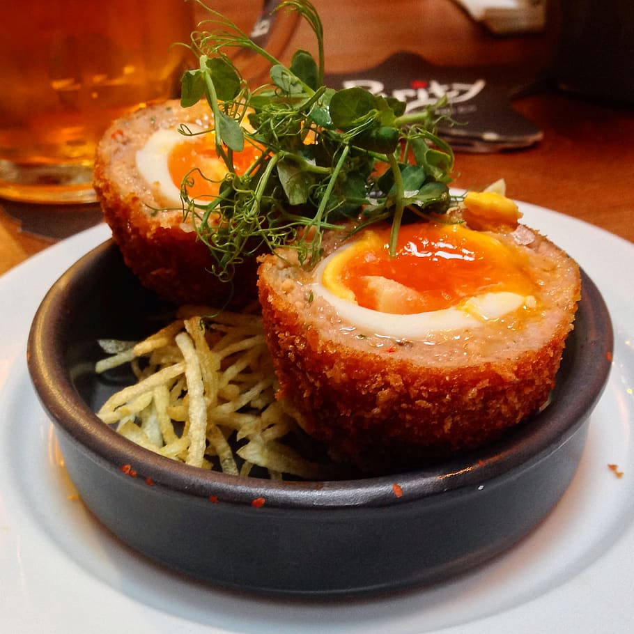
<instances>
[{"instance_id":1,"label":"pile of thin pale shoestring fries in the dark dish","mask_svg":"<svg viewBox=\"0 0 634 634\"><path fill-rule=\"evenodd\" d=\"M275 399L258 315L185 306L143 341L99 343L109 356L95 365L97 373L129 363L137 377L98 412L132 442L193 467L241 476L255 465L272 479L315 480L331 472L285 442L302 434L299 416Z\"/></svg>"}]
</instances>

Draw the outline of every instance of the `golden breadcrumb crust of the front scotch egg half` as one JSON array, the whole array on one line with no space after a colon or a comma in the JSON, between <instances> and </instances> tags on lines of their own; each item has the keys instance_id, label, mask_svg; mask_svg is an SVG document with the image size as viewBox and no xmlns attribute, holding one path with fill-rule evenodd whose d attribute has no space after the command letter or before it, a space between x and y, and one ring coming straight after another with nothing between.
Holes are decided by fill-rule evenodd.
<instances>
[{"instance_id":1,"label":"golden breadcrumb crust of the front scotch egg half","mask_svg":"<svg viewBox=\"0 0 634 634\"><path fill-rule=\"evenodd\" d=\"M557 263L548 271L551 285L565 278L561 314L555 322L545 320L541 337L514 337L506 352L490 355L476 346L472 360L450 351L437 361L421 342L405 349L346 340L334 332L341 329L333 330L332 320L314 318L313 308L280 281L284 267L278 258L263 258L258 286L280 395L294 403L306 431L327 442L334 456L370 471L497 438L548 399L580 296L576 265L541 236L535 242L532 249L546 248L548 261Z\"/></svg>"}]
</instances>

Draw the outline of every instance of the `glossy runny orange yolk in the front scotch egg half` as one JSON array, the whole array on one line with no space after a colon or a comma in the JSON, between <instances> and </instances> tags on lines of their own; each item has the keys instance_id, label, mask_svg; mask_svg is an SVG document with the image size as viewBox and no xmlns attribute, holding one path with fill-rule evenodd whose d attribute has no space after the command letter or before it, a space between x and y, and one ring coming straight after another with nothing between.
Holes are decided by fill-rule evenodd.
<instances>
[{"instance_id":1,"label":"glossy runny orange yolk in the front scotch egg half","mask_svg":"<svg viewBox=\"0 0 634 634\"><path fill-rule=\"evenodd\" d=\"M401 226L394 258L388 243L389 228L366 231L330 261L323 284L359 306L393 314L445 309L481 293L534 292L523 256L491 235L426 222Z\"/></svg>"}]
</instances>

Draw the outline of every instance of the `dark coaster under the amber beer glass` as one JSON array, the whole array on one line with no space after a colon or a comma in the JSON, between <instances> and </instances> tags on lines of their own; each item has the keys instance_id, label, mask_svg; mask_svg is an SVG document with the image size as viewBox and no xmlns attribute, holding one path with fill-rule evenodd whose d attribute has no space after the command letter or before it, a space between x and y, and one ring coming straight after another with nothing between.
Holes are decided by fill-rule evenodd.
<instances>
[{"instance_id":1,"label":"dark coaster under the amber beer glass","mask_svg":"<svg viewBox=\"0 0 634 634\"><path fill-rule=\"evenodd\" d=\"M98 203L40 205L0 199L0 212L19 222L20 231L53 240L63 240L103 222Z\"/></svg>"}]
</instances>

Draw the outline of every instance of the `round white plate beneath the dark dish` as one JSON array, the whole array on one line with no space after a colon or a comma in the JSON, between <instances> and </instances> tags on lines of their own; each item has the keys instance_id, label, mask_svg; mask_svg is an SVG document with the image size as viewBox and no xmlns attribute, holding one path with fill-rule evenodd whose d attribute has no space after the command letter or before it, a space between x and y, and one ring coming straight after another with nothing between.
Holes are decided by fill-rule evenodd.
<instances>
[{"instance_id":1,"label":"round white plate beneath the dark dish","mask_svg":"<svg viewBox=\"0 0 634 634\"><path fill-rule=\"evenodd\" d=\"M521 208L527 224L579 261L612 314L614 363L585 454L555 510L509 552L451 582L381 598L310 602L224 592L123 546L75 497L25 363L29 324L45 291L109 231L84 231L0 278L3 631L634 631L634 245L555 212ZM617 464L623 477L608 464Z\"/></svg>"}]
</instances>

